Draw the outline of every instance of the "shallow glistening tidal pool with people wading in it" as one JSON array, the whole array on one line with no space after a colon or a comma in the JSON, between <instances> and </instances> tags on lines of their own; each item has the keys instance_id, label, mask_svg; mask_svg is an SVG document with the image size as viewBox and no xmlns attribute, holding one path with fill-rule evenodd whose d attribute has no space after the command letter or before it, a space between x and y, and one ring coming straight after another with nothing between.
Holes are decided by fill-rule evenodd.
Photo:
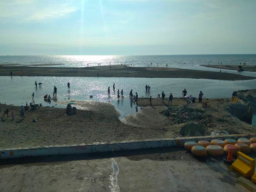
<instances>
[{"instance_id":1,"label":"shallow glistening tidal pool with people wading in it","mask_svg":"<svg viewBox=\"0 0 256 192\"><path fill-rule=\"evenodd\" d=\"M35 87L35 81L41 82L42 87ZM204 93L203 98L231 98L237 90L255 89L256 80L247 81L222 81L211 79L186 79L186 78L125 78L125 77L27 77L27 76L0 76L1 103L13 105L25 105L31 102L32 92L35 92L35 103L44 106L56 106L54 101L45 102L45 94L52 96L53 86L57 87L59 101L67 100L94 100L113 103L120 111L120 118L133 114L136 110L129 99L129 92L138 92L139 97L157 97L157 94L165 92L166 97L172 92L174 97L181 97L182 90L187 89L188 95L198 97L199 91ZM68 91L67 83L71 90ZM116 84L116 92L113 92L113 84ZM145 91L146 84L150 85L150 92ZM108 86L111 95L108 97ZM124 90L124 98L117 100L117 89ZM93 96L90 99L90 95Z\"/></svg>"}]
</instances>

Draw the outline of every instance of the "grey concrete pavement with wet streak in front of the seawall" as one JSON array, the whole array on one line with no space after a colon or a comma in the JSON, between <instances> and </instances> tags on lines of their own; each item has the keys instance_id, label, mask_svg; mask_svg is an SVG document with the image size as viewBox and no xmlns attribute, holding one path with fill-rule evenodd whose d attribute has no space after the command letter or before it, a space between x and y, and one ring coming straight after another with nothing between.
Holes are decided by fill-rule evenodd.
<instances>
[{"instance_id":1,"label":"grey concrete pavement with wet streak in front of the seawall","mask_svg":"<svg viewBox=\"0 0 256 192\"><path fill-rule=\"evenodd\" d=\"M9 159L0 164L0 192L256 191L255 184L221 157L197 159L177 147Z\"/></svg>"}]
</instances>

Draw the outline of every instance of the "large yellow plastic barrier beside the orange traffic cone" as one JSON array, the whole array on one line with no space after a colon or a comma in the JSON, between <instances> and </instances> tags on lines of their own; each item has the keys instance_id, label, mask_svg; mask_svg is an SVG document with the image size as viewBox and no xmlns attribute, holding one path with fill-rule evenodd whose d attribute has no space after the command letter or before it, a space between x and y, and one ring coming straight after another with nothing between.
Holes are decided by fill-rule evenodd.
<instances>
[{"instance_id":1,"label":"large yellow plastic barrier beside the orange traffic cone","mask_svg":"<svg viewBox=\"0 0 256 192\"><path fill-rule=\"evenodd\" d=\"M232 164L232 169L236 170L244 177L252 177L254 174L255 160L242 152L237 153L237 159Z\"/></svg>"}]
</instances>

